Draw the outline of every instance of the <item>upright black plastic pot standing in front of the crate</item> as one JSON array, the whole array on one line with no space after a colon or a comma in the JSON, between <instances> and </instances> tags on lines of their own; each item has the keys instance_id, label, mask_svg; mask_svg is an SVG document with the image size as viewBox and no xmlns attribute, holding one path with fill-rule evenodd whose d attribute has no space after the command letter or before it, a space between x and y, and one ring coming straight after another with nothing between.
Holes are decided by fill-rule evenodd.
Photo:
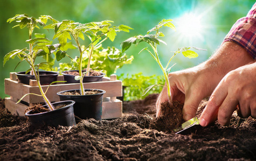
<instances>
[{"instance_id":1,"label":"upright black plastic pot standing in front of the crate","mask_svg":"<svg viewBox=\"0 0 256 161\"><path fill-rule=\"evenodd\" d=\"M85 91L91 91L92 89L85 89ZM97 89L94 89L97 90ZM106 91L98 90L100 93L91 95L64 95L64 92L74 92L80 90L67 90L58 92L60 100L73 100L74 104L74 114L80 119L90 119L101 121L102 115L102 103L103 94Z\"/></svg>"}]
</instances>

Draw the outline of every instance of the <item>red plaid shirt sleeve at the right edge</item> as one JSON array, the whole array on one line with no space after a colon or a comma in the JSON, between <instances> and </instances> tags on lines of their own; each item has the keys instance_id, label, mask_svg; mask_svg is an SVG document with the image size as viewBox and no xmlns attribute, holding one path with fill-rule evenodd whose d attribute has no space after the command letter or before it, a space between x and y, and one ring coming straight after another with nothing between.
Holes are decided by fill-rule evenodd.
<instances>
[{"instance_id":1,"label":"red plaid shirt sleeve at the right edge","mask_svg":"<svg viewBox=\"0 0 256 161\"><path fill-rule=\"evenodd\" d=\"M223 42L234 41L244 47L256 59L256 3L246 17L234 24Z\"/></svg>"}]
</instances>

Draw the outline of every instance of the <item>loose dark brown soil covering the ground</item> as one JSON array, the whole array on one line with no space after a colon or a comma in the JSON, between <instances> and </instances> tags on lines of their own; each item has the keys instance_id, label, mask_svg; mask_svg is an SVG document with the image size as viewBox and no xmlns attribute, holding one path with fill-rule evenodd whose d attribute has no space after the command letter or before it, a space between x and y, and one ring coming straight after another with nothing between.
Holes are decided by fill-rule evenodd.
<instances>
[{"instance_id":1,"label":"loose dark brown soil covering the ground","mask_svg":"<svg viewBox=\"0 0 256 161\"><path fill-rule=\"evenodd\" d=\"M32 127L5 112L1 100L0 160L256 160L254 119L234 113L228 127L215 122L183 134L158 131L150 127L156 98L124 102L122 118L82 120L72 128Z\"/></svg>"}]
</instances>

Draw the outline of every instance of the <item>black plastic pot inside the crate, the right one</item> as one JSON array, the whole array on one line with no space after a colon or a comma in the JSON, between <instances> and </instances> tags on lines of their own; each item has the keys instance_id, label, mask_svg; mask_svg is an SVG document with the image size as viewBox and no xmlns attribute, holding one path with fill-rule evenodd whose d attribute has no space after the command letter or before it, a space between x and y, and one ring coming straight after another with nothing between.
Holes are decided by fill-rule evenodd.
<instances>
[{"instance_id":1,"label":"black plastic pot inside the crate, the right one","mask_svg":"<svg viewBox=\"0 0 256 161\"><path fill-rule=\"evenodd\" d=\"M66 70L61 72L61 74L63 74L64 76L64 80L67 81L66 83L79 83L79 80L75 80L75 76L74 75L68 75L67 72L72 72L72 71L77 71L78 70ZM85 72L86 70L82 70L82 72ZM82 79L83 83L88 83L88 82L100 82L103 79L103 76L105 76L106 74L104 74L103 72L100 72L101 75L100 76L84 76L84 79Z\"/></svg>"}]
</instances>

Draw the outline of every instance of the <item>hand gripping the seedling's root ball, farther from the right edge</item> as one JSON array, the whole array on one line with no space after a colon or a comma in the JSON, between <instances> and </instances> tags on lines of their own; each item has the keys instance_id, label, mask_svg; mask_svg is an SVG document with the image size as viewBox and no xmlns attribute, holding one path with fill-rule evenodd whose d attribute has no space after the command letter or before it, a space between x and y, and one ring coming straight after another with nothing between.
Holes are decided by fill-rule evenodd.
<instances>
[{"instance_id":1,"label":"hand gripping the seedling's root ball, farther from the right edge","mask_svg":"<svg viewBox=\"0 0 256 161\"><path fill-rule=\"evenodd\" d=\"M207 68L198 65L190 69L169 74L171 100L168 100L167 87L164 87L156 102L156 116L160 116L161 103L177 100L184 104L183 118L189 120L196 115L200 101L210 96L220 81L220 77Z\"/></svg>"}]
</instances>

